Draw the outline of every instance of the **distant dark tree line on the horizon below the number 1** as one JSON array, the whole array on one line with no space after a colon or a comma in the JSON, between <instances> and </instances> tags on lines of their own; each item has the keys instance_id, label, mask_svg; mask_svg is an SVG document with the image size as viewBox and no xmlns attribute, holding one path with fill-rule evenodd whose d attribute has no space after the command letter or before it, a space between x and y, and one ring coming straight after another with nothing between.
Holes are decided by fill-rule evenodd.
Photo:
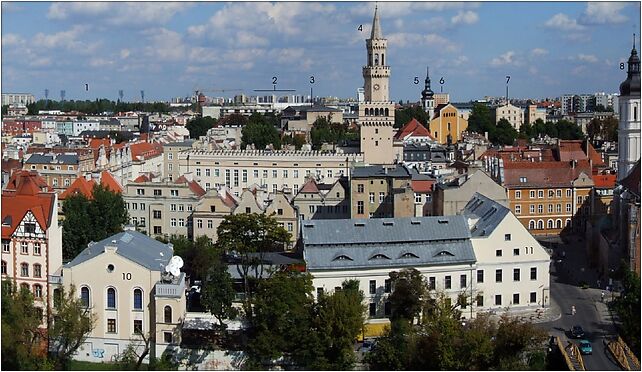
<instances>
[{"instance_id":1,"label":"distant dark tree line on the horizon below the number 1","mask_svg":"<svg viewBox=\"0 0 642 372\"><path fill-rule=\"evenodd\" d=\"M102 114L103 112L125 112L125 111L145 111L145 112L169 112L170 107L163 102L143 103L143 102L121 102L110 101L108 99L96 99L94 101L54 101L39 100L27 105L29 115L36 115L40 110L60 110L63 112L78 111L88 115Z\"/></svg>"}]
</instances>

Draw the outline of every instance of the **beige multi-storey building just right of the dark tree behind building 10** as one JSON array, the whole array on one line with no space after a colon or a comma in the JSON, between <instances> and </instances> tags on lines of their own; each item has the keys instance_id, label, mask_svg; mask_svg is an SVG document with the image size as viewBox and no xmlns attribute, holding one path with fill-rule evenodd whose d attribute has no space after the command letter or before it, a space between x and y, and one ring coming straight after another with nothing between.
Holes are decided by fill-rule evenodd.
<instances>
[{"instance_id":1,"label":"beige multi-storey building just right of the dark tree behind building 10","mask_svg":"<svg viewBox=\"0 0 642 372\"><path fill-rule=\"evenodd\" d=\"M142 175L127 184L123 198L130 223L149 236L192 236L192 211L205 195L191 174L175 181Z\"/></svg>"}]
</instances>

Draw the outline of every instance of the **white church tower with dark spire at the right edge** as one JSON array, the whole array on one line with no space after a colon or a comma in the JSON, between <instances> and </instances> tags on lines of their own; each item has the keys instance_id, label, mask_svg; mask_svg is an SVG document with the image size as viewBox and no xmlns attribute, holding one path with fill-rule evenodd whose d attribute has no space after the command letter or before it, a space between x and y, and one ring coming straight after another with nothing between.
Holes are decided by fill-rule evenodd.
<instances>
[{"instance_id":1,"label":"white church tower with dark spire at the right edge","mask_svg":"<svg viewBox=\"0 0 642 372\"><path fill-rule=\"evenodd\" d=\"M640 159L640 57L633 49L629 57L627 77L620 84L620 125L618 126L617 178L626 177Z\"/></svg>"}]
</instances>

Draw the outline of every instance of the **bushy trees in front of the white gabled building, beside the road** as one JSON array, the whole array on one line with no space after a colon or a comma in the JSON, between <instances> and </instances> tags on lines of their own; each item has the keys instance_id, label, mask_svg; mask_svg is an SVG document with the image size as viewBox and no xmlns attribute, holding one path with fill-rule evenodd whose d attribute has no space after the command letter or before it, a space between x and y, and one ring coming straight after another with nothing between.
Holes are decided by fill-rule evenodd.
<instances>
[{"instance_id":1,"label":"bushy trees in front of the white gabled building, beside the road","mask_svg":"<svg viewBox=\"0 0 642 372\"><path fill-rule=\"evenodd\" d=\"M416 269L390 274L391 326L366 362L375 370L544 369L546 333L533 324L478 314L462 321L471 306L462 293L453 304L428 290Z\"/></svg>"}]
</instances>

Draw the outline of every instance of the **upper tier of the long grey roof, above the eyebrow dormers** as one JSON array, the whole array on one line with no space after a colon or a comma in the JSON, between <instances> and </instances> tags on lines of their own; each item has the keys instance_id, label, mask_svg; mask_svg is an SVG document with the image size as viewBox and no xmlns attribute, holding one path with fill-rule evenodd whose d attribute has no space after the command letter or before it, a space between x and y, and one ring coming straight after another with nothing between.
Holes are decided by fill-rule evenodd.
<instances>
[{"instance_id":1,"label":"upper tier of the long grey roof, above the eyebrow dormers","mask_svg":"<svg viewBox=\"0 0 642 372\"><path fill-rule=\"evenodd\" d=\"M470 238L464 216L306 220L302 227L305 247L426 242Z\"/></svg>"}]
</instances>

